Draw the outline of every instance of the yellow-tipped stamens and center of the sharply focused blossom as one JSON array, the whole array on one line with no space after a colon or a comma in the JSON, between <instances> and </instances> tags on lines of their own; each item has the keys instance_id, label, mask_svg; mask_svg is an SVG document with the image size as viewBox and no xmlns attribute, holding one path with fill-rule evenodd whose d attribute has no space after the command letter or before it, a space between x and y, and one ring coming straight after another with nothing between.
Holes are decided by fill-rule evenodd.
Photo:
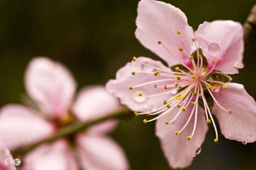
<instances>
[{"instance_id":1,"label":"yellow-tipped stamens and center of the sharply focused blossom","mask_svg":"<svg viewBox=\"0 0 256 170\"><path fill-rule=\"evenodd\" d=\"M179 30L177 34L181 34L181 31ZM181 37L182 38L182 37ZM182 40L182 42L184 42ZM156 89L165 89L166 92L157 93L154 95L144 95L141 91L138 91L138 97L144 98L143 101L146 101L149 97L158 97L164 94L172 94L176 91L176 95L170 97L169 99L163 99L163 106L158 107L157 109L152 109L148 112L142 112L138 113L135 112L134 115L137 117L138 115L147 115L147 116L153 116L157 115L153 119L147 120L144 119L143 123L148 123L151 121L154 121L172 111L174 108L178 107L180 108L178 113L176 113L175 117L172 120L166 120L164 123L166 125L171 125L172 122L176 121L176 118L182 114L182 112L187 111L188 107L191 107L190 115L188 117L187 122L181 129L177 129L174 134L178 135L180 132L182 132L190 120L192 119L192 116L194 115L194 128L192 130L192 133L187 136L187 140L190 140L195 132L196 129L196 123L197 123L197 114L198 114L198 105L201 105L204 108L205 115L206 115L206 123L210 124L212 123L216 132L216 138L214 139L214 142L218 142L218 132L216 129L216 125L214 123L214 119L212 117L212 113L210 110L210 105L208 104L208 98L206 99L206 95L212 97L211 99L220 107L223 111L226 113L231 113L231 109L226 109L222 107L216 98L214 97L212 91L218 90L220 87L223 89L226 89L227 86L224 85L226 83L223 81L223 79L220 79L220 77L228 77L227 75L224 75L223 73L214 71L214 67L216 65L216 61L212 60L212 63L210 65L212 66L210 70L207 69L207 63L204 63L204 56L202 53L200 53L201 49L198 47L198 43L196 42L195 38L192 38L192 42L194 42L194 45L196 46L196 51L190 55L189 51L186 48L186 45L184 43L184 47L180 47L178 50L180 50L181 53L184 53L188 57L189 62L182 62L178 58L176 58L171 51L161 42L158 41L159 45L162 45L166 51L170 53L172 57L177 59L180 62L180 65L176 65L174 67L171 67L172 70L168 69L160 69L157 67L154 67L153 65L150 65L148 63L144 63L141 61L136 61L136 57L133 57L132 61L140 62L145 67L151 67L152 71L133 71L132 75L136 76L137 74L146 74L145 76L148 76L148 74L151 74L152 76L159 76L162 79L158 79L155 81L149 81L138 85L131 85L129 87L130 90L136 89L138 91L138 87L142 87L145 85L151 85L152 88ZM217 43L211 43L208 47L208 52L212 56L217 56L220 53L220 46ZM209 65L209 63L208 63ZM228 77L229 78L229 77ZM230 81L230 78L229 80ZM166 85L158 85L162 83L166 83ZM200 104L199 101L201 101Z\"/></svg>"}]
</instances>

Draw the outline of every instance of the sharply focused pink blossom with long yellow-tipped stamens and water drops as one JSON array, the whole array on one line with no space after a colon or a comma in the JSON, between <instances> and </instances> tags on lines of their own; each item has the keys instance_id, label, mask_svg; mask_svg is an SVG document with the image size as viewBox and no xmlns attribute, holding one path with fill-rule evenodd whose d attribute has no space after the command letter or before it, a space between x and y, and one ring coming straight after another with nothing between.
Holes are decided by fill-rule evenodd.
<instances>
[{"instance_id":1,"label":"sharply focused pink blossom with long yellow-tipped stamens and water drops","mask_svg":"<svg viewBox=\"0 0 256 170\"><path fill-rule=\"evenodd\" d=\"M135 116L156 116L143 122L157 120L156 136L172 168L192 163L204 142L207 123L212 123L214 142L218 142L212 114L226 138L256 140L256 103L243 85L229 83L231 78L225 75L238 73L243 67L240 23L204 22L193 32L180 9L141 0L136 25L136 38L169 67L146 57L133 57L106 88L135 111Z\"/></svg>"}]
</instances>

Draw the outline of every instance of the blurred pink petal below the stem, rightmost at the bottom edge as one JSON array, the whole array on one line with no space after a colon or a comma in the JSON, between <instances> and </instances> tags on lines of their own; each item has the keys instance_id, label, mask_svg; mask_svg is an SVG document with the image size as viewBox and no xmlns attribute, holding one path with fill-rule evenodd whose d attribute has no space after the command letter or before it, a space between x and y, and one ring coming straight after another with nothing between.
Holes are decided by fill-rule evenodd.
<instances>
[{"instance_id":1,"label":"blurred pink petal below the stem, rightmost at the bottom edge","mask_svg":"<svg viewBox=\"0 0 256 170\"><path fill-rule=\"evenodd\" d=\"M79 135L78 154L82 168L88 170L127 170L124 150L107 136Z\"/></svg>"}]
</instances>

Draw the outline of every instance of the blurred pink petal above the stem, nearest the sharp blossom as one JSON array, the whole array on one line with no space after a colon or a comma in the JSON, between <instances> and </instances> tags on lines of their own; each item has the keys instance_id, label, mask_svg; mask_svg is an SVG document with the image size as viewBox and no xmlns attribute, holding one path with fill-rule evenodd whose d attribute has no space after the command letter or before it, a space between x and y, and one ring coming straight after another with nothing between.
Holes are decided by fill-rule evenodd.
<instances>
[{"instance_id":1,"label":"blurred pink petal above the stem, nearest the sharp blossom","mask_svg":"<svg viewBox=\"0 0 256 170\"><path fill-rule=\"evenodd\" d=\"M120 109L118 99L108 93L104 86L94 85L80 90L73 106L73 113L80 121L91 121L118 109Z\"/></svg>"}]
</instances>

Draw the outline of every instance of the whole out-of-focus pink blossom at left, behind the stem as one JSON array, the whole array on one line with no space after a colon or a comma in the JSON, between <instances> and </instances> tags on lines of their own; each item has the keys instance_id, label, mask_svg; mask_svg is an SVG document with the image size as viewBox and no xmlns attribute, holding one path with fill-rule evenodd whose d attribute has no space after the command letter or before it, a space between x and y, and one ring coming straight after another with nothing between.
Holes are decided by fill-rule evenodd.
<instances>
[{"instance_id":1,"label":"whole out-of-focus pink blossom at left, behind the stem","mask_svg":"<svg viewBox=\"0 0 256 170\"><path fill-rule=\"evenodd\" d=\"M40 111L23 105L2 107L0 141L11 150L52 135L58 127L70 122L70 113L86 122L120 107L118 100L102 86L84 87L74 100L76 82L72 74L61 63L45 57L30 61L25 87ZM123 149L107 135L116 125L116 120L108 120L69 139L43 144L26 154L23 169L128 169ZM76 143L74 152L69 143Z\"/></svg>"}]
</instances>

